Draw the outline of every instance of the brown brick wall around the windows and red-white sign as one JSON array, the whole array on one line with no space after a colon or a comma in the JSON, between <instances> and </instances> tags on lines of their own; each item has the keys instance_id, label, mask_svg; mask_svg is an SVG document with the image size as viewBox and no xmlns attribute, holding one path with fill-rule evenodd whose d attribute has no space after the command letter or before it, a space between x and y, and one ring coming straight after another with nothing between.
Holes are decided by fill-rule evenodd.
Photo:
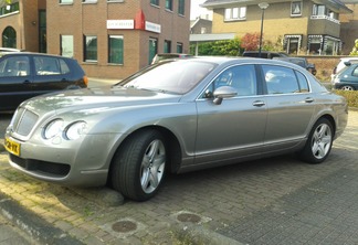
<instances>
[{"instance_id":1,"label":"brown brick wall around the windows and red-white sign","mask_svg":"<svg viewBox=\"0 0 358 245\"><path fill-rule=\"evenodd\" d=\"M95 4L74 0L73 4L48 4L48 52L61 53L61 34L74 36L74 58L88 76L104 78L124 78L148 65L149 39L158 40L158 52L164 51L164 41L171 41L171 51L177 43L183 44L189 52L190 1L186 0L185 17L178 14L178 1L173 10L165 9L165 1L154 7L147 0L107 2L98 0ZM145 20L160 24L160 33L144 30L108 30L107 20L134 20L138 11ZM97 36L97 62L84 62L84 35ZM108 64L108 35L124 36L124 64Z\"/></svg>"}]
</instances>

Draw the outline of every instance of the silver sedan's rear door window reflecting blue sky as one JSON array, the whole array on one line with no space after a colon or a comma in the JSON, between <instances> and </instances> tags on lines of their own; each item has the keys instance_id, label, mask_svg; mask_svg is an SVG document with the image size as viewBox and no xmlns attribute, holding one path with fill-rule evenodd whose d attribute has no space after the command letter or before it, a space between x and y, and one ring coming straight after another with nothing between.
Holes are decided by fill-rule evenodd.
<instances>
[{"instance_id":1,"label":"silver sedan's rear door window reflecting blue sky","mask_svg":"<svg viewBox=\"0 0 358 245\"><path fill-rule=\"evenodd\" d=\"M263 65L263 73L268 94L292 94L299 93L297 77L292 68Z\"/></svg>"}]
</instances>

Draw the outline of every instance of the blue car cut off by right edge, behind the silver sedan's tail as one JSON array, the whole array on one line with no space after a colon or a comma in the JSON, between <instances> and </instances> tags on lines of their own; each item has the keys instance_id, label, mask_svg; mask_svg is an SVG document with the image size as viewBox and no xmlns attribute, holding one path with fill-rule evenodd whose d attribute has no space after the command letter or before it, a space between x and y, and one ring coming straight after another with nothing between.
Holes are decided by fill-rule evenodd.
<instances>
[{"instance_id":1,"label":"blue car cut off by right edge, behind the silver sedan's tail","mask_svg":"<svg viewBox=\"0 0 358 245\"><path fill-rule=\"evenodd\" d=\"M334 88L358 90L358 62L346 62L345 65L346 67L333 77Z\"/></svg>"}]
</instances>

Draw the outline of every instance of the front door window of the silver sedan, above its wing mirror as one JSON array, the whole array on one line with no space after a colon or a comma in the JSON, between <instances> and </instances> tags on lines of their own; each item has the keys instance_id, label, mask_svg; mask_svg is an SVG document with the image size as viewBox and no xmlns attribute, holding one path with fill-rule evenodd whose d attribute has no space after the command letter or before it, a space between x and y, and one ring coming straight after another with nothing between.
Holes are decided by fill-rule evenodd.
<instances>
[{"instance_id":1,"label":"front door window of the silver sedan, above its wing mirror","mask_svg":"<svg viewBox=\"0 0 358 245\"><path fill-rule=\"evenodd\" d=\"M256 95L257 87L254 65L236 65L227 68L211 83L203 97L212 97L214 89L221 86L235 88L238 96Z\"/></svg>"}]
</instances>

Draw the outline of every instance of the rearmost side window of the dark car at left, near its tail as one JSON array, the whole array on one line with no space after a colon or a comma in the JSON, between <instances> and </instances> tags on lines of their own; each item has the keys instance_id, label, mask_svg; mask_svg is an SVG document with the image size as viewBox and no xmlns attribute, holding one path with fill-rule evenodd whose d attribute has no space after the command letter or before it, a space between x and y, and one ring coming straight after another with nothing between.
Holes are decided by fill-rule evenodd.
<instances>
[{"instance_id":1,"label":"rearmost side window of the dark car at left, near its tail","mask_svg":"<svg viewBox=\"0 0 358 245\"><path fill-rule=\"evenodd\" d=\"M33 60L36 75L60 75L70 72L69 66L61 58L34 56Z\"/></svg>"}]
</instances>

